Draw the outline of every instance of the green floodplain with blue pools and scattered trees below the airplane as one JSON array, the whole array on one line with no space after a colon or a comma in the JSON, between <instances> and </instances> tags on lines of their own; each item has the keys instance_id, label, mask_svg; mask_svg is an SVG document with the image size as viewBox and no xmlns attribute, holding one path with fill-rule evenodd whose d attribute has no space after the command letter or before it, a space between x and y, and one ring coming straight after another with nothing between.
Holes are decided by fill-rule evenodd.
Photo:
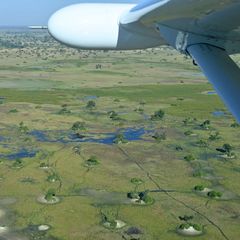
<instances>
[{"instance_id":1,"label":"green floodplain with blue pools and scattered trees below the airplane","mask_svg":"<svg viewBox=\"0 0 240 240\"><path fill-rule=\"evenodd\" d=\"M239 138L169 47L82 51L0 32L0 239L237 240Z\"/></svg>"}]
</instances>

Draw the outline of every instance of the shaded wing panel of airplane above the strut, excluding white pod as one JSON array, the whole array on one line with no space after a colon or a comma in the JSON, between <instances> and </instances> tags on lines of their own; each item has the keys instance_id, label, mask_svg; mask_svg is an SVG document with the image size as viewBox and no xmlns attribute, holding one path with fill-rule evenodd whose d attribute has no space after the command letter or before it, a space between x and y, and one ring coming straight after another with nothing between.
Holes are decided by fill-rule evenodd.
<instances>
[{"instance_id":1,"label":"shaded wing panel of airplane above the strut, excluding white pod","mask_svg":"<svg viewBox=\"0 0 240 240\"><path fill-rule=\"evenodd\" d=\"M120 23L162 25L178 31L240 42L238 0L143 0ZM238 52L240 47L236 49ZM234 49L229 49L234 53ZM228 52L229 52L228 51Z\"/></svg>"}]
</instances>

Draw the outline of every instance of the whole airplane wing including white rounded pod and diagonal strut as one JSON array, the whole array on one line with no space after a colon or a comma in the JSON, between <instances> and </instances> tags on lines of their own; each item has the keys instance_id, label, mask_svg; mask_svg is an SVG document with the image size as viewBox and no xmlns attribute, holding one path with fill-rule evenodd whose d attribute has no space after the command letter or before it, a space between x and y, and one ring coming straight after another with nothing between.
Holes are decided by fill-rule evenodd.
<instances>
[{"instance_id":1,"label":"whole airplane wing including white rounded pod and diagonal strut","mask_svg":"<svg viewBox=\"0 0 240 240\"><path fill-rule=\"evenodd\" d=\"M55 13L50 33L88 49L138 49L169 44L190 55L240 122L239 0L143 0L77 4Z\"/></svg>"}]
</instances>

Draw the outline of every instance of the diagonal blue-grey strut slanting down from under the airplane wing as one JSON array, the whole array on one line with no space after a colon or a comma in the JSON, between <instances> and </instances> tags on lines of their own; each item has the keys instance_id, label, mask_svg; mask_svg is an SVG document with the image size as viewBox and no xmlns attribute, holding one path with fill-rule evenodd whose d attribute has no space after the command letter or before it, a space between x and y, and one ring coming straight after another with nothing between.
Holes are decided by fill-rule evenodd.
<instances>
[{"instance_id":1,"label":"diagonal blue-grey strut slanting down from under the airplane wing","mask_svg":"<svg viewBox=\"0 0 240 240\"><path fill-rule=\"evenodd\" d=\"M240 122L240 69L221 48L196 44L187 48L226 106Z\"/></svg>"}]
</instances>

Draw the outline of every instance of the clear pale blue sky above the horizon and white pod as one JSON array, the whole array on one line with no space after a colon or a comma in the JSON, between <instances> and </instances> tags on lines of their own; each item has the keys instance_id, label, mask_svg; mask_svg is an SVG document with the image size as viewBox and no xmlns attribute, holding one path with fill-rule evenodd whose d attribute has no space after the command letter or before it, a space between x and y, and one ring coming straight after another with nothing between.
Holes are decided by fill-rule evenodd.
<instances>
[{"instance_id":1,"label":"clear pale blue sky above the horizon and white pod","mask_svg":"<svg viewBox=\"0 0 240 240\"><path fill-rule=\"evenodd\" d=\"M52 13L61 7L80 2L102 0L0 0L0 26L47 25ZM104 0L113 2L114 0ZM117 0L117 2L136 0Z\"/></svg>"}]
</instances>

